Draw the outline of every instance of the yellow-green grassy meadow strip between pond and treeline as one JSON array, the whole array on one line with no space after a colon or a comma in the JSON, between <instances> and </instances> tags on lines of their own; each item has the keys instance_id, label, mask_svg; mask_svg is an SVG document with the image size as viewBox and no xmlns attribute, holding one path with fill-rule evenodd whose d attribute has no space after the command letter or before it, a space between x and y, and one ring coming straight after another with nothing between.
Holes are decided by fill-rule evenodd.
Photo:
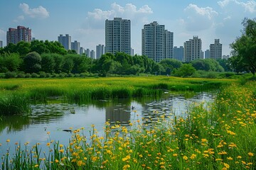
<instances>
[{"instance_id":1,"label":"yellow-green grassy meadow strip between pond and treeline","mask_svg":"<svg viewBox=\"0 0 256 170\"><path fill-rule=\"evenodd\" d=\"M230 84L230 79L183 79L176 77L110 77L66 79L1 79L0 115L29 113L32 102L48 97L85 103L92 99L159 96L163 91L206 91Z\"/></svg>"}]
</instances>

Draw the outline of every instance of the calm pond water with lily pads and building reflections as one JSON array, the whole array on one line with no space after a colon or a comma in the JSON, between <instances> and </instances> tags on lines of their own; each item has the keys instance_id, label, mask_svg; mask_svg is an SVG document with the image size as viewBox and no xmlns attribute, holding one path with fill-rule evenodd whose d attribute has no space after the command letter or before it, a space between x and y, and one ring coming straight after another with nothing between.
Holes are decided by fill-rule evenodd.
<instances>
[{"instance_id":1,"label":"calm pond water with lily pads and building reflections","mask_svg":"<svg viewBox=\"0 0 256 170\"><path fill-rule=\"evenodd\" d=\"M150 123L162 114L186 115L191 104L202 101L213 101L213 94L164 94L157 99L93 101L80 106L58 99L50 100L48 104L32 105L29 117L11 116L4 119L0 124L0 157L6 153L6 149L14 149L15 142L21 145L29 142L28 146L40 142L43 147L50 140L58 140L60 144L67 145L71 133L63 130L83 127L85 135L90 136L91 125L95 125L100 134L106 121L112 124L119 121L122 125L128 125L129 121L145 118L144 123ZM50 132L50 136L47 132ZM11 141L9 144L7 139Z\"/></svg>"}]
</instances>

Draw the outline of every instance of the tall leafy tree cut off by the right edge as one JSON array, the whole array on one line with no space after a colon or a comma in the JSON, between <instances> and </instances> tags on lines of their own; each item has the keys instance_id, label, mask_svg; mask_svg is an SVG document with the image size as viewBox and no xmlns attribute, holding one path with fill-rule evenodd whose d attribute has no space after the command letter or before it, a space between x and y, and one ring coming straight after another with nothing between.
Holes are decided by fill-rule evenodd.
<instances>
[{"instance_id":1,"label":"tall leafy tree cut off by the right edge","mask_svg":"<svg viewBox=\"0 0 256 170\"><path fill-rule=\"evenodd\" d=\"M233 48L233 57L238 60L245 69L249 69L255 77L256 72L256 18L245 18L242 21L244 26L242 35L237 38L230 47ZM231 59L232 60L232 59ZM235 65L233 65L235 66Z\"/></svg>"}]
</instances>

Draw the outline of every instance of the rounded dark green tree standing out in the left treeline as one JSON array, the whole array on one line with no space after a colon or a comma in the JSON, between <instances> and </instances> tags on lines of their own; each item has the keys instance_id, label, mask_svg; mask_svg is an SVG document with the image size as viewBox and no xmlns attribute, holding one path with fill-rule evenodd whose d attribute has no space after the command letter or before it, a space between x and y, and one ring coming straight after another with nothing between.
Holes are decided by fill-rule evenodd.
<instances>
[{"instance_id":1,"label":"rounded dark green tree standing out in the left treeline","mask_svg":"<svg viewBox=\"0 0 256 170\"><path fill-rule=\"evenodd\" d=\"M26 72L39 72L41 70L41 60L41 55L37 52L29 52L23 59Z\"/></svg>"}]
</instances>

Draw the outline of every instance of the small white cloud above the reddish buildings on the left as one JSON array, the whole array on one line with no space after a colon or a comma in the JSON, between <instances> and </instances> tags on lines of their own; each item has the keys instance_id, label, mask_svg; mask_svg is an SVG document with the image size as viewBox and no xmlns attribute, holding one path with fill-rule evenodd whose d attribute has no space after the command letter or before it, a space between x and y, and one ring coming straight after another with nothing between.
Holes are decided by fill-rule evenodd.
<instances>
[{"instance_id":1,"label":"small white cloud above the reddish buildings on the left","mask_svg":"<svg viewBox=\"0 0 256 170\"><path fill-rule=\"evenodd\" d=\"M31 18L48 18L50 16L49 12L43 6L38 6L38 8L29 8L28 4L20 4L19 7L22 9L23 13Z\"/></svg>"}]
</instances>

